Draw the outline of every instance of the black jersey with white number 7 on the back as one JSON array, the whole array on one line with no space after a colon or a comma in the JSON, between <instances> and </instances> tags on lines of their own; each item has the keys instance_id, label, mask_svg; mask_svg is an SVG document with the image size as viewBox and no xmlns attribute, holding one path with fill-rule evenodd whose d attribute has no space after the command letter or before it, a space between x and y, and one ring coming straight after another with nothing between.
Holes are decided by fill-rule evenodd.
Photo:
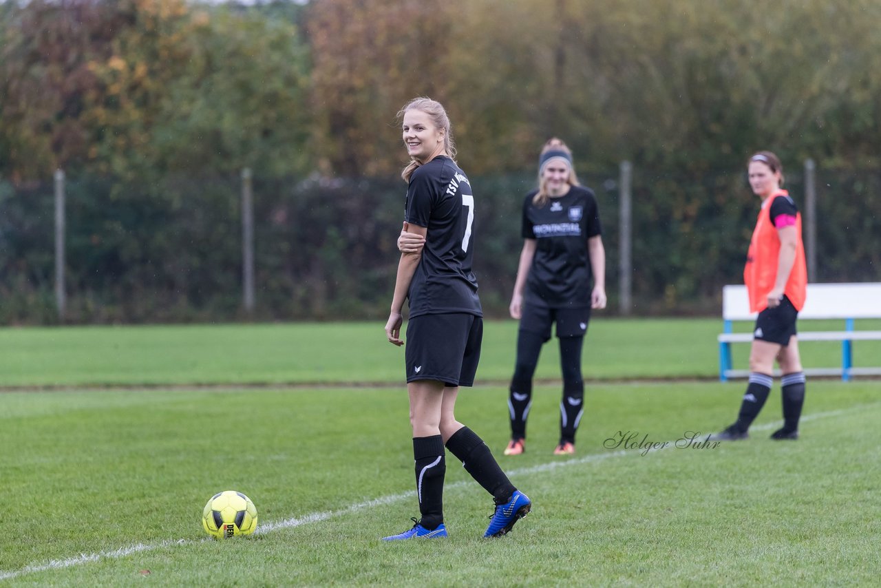
<instances>
[{"instance_id":1,"label":"black jersey with white number 7 on the back","mask_svg":"<svg viewBox=\"0 0 881 588\"><path fill-rule=\"evenodd\" d=\"M441 155L410 176L404 220L427 227L410 283L410 316L463 312L483 316L474 257L474 195L465 173Z\"/></svg>"}]
</instances>

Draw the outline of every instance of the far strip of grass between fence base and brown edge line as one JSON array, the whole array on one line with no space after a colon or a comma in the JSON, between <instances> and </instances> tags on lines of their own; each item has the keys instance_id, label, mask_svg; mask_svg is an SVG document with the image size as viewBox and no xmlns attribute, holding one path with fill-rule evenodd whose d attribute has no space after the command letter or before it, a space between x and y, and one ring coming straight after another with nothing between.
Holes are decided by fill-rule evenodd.
<instances>
[{"instance_id":1,"label":"far strip of grass between fence base and brown edge line","mask_svg":"<svg viewBox=\"0 0 881 588\"><path fill-rule=\"evenodd\" d=\"M861 321L881 329L881 321ZM184 325L0 329L0 387L192 384L397 383L403 351L383 323ZM751 324L737 324L750 331ZM812 321L840 330L841 321ZM514 367L517 323L488 321L478 378L505 383ZM584 369L589 379L718 376L716 319L607 319L591 322ZM855 366L877 367L881 341L855 343ZM736 368L749 346L736 345ZM805 365L838 367L840 343L802 344ZM544 347L538 378L559 378L555 341Z\"/></svg>"}]
</instances>

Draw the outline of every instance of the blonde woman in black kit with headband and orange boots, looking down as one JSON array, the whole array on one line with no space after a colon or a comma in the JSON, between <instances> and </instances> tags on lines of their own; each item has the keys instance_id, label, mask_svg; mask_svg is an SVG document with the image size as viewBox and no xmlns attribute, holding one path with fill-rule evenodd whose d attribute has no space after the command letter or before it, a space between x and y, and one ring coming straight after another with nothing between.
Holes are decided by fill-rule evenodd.
<instances>
[{"instance_id":1,"label":"blonde woman in black kit with headband and orange boots, looking down","mask_svg":"<svg viewBox=\"0 0 881 588\"><path fill-rule=\"evenodd\" d=\"M539 156L538 189L523 202L522 237L509 309L511 317L520 320L520 329L507 403L511 441L505 455L520 455L526 449L532 376L553 323L563 375L559 443L553 452L570 455L584 412L581 348L590 310L606 305L605 249L596 197L579 185L572 152L558 138L545 143Z\"/></svg>"}]
</instances>

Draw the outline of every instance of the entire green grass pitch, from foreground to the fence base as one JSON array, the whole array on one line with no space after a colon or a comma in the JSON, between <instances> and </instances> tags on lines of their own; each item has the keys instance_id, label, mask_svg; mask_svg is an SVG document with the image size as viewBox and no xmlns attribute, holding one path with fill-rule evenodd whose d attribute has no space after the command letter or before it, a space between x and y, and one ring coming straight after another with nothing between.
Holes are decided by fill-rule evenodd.
<instances>
[{"instance_id":1,"label":"entire green grass pitch, from foreground to the fence base","mask_svg":"<svg viewBox=\"0 0 881 588\"><path fill-rule=\"evenodd\" d=\"M585 374L609 381L588 386L578 453L551 454L549 382L527 453L507 458L515 331L488 324L484 383L463 391L457 414L535 508L483 540L492 500L448 456L450 538L403 544L379 540L418 515L406 393L389 385L403 379L403 352L381 325L0 330L0 582L877 585L881 384L810 380L797 442L767 439L778 385L750 440L677 447L737 412L744 383L711 379L718 327L597 320ZM546 347L539 376L558 377L556 361ZM707 380L622 382L651 376ZM178 385L194 383L219 385ZM49 385L70 389L37 388ZM672 444L616 446L628 432ZM204 534L204 502L223 489L255 502L255 536Z\"/></svg>"}]
</instances>

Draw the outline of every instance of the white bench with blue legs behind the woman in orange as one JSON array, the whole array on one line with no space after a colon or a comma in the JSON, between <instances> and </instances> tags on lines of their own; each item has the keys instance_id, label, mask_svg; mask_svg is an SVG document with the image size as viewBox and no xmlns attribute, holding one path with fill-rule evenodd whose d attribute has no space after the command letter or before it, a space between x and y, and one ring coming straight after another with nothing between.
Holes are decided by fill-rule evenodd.
<instances>
[{"instance_id":1,"label":"white bench with blue legs behind the woman in orange","mask_svg":"<svg viewBox=\"0 0 881 588\"><path fill-rule=\"evenodd\" d=\"M855 331L857 318L881 318L881 283L808 284L808 298L798 313L798 342L841 341L840 368L805 368L808 376L841 376L845 382L852 376L879 376L881 368L855 368L853 344L861 340L881 340L881 331ZM803 331L805 320L843 319L844 331ZM756 320L750 312L745 286L722 287L723 332L719 335L719 379L749 376L748 369L734 369L731 344L752 341L752 333L734 333L733 321ZM879 358L881 359L881 358Z\"/></svg>"}]
</instances>

